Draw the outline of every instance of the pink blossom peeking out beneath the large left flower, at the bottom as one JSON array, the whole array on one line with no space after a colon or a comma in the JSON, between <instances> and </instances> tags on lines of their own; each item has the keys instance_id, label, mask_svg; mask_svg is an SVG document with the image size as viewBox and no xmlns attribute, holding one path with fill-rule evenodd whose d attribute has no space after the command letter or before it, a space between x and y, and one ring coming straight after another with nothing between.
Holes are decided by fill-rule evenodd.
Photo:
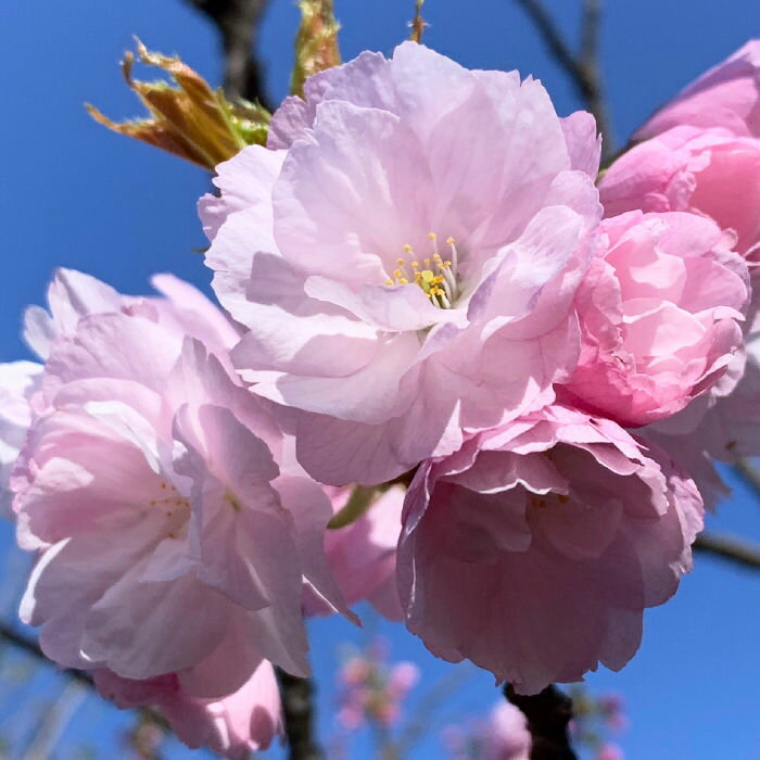
<instances>
[{"instance_id":1,"label":"pink blossom peeking out beneath the large left flower, at the bottom","mask_svg":"<svg viewBox=\"0 0 760 760\"><path fill-rule=\"evenodd\" d=\"M215 699L194 696L178 673L130 681L100 669L98 692L121 709L157 708L188 747L206 747L229 760L248 760L282 733L282 709L275 671L263 660L233 694Z\"/></svg>"}]
</instances>

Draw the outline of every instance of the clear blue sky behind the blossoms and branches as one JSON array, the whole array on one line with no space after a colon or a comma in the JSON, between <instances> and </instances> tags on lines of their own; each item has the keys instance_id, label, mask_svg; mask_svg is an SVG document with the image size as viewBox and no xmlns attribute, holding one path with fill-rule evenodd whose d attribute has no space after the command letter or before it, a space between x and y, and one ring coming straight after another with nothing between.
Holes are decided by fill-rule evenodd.
<instances>
[{"instance_id":1,"label":"clear blue sky behind the blossoms and branches","mask_svg":"<svg viewBox=\"0 0 760 760\"><path fill-rule=\"evenodd\" d=\"M577 0L547 4L572 34ZM364 49L388 52L407 35L413 0L335 0L335 5L345 58ZM619 142L682 85L748 37L760 36L755 0L618 0L607 5L603 65ZM545 83L560 114L579 107L510 0L428 0L426 10L431 47L470 67L533 74ZM292 0L273 0L263 48L276 98L287 91L296 18ZM26 356L18 339L20 314L26 304L42 301L58 265L92 273L126 292L144 292L149 276L161 270L207 286L208 273L192 253L204 243L194 203L207 189L207 177L107 132L81 107L91 101L112 116L139 113L116 65L132 34L149 47L181 53L218 81L216 39L180 0L0 2L0 360ZM713 523L760 541L760 502L739 489ZM9 536L3 527L3 546ZM0 557L0 572L2 567ZM620 674L604 672L588 680L594 689L616 689L626 697L631 729L621 744L629 758L760 758L759 623L760 573L698 557L675 599L646 616L644 645L634 661ZM402 629L380 629L391 637L396 656L421 664L426 681L447 671ZM320 621L313 632L315 669L322 682L321 725L329 733L335 644L367 634L339 620ZM24 688L39 695L41 683ZM460 691L446 715L464 718L490 708L496 698L492 679L480 674ZM0 733L4 704L0 698ZM119 720L88 700L66 743L88 739L111 757L103 743ZM354 756L366 757L363 748L357 746ZM173 757L190 755L177 750ZM435 740L420 745L414 757L439 757Z\"/></svg>"}]
</instances>

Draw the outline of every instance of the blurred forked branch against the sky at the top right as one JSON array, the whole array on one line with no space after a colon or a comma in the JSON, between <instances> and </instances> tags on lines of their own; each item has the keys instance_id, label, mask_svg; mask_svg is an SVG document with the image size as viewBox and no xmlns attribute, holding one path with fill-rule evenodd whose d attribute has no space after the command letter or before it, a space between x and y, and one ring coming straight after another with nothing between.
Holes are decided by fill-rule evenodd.
<instances>
[{"instance_id":1,"label":"blurred forked branch against the sky at the top right","mask_svg":"<svg viewBox=\"0 0 760 760\"><path fill-rule=\"evenodd\" d=\"M599 73L601 0L583 0L581 46L575 54L541 0L515 0L531 17L555 61L565 69L575 91L594 114L601 134L603 161L612 154L613 140Z\"/></svg>"}]
</instances>

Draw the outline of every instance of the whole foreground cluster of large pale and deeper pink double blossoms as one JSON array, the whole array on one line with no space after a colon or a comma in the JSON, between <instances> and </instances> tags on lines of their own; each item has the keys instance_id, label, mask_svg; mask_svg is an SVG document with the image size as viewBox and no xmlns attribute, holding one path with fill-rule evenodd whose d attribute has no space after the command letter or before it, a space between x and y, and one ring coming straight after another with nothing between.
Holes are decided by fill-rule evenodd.
<instances>
[{"instance_id":1,"label":"whole foreground cluster of large pale and deeper pink double blossoms","mask_svg":"<svg viewBox=\"0 0 760 760\"><path fill-rule=\"evenodd\" d=\"M750 42L597 187L540 81L363 53L217 166L220 308L60 270L39 363L0 367L46 655L230 758L281 730L304 617L362 599L521 693L622 668L712 460L760 453L759 72Z\"/></svg>"}]
</instances>

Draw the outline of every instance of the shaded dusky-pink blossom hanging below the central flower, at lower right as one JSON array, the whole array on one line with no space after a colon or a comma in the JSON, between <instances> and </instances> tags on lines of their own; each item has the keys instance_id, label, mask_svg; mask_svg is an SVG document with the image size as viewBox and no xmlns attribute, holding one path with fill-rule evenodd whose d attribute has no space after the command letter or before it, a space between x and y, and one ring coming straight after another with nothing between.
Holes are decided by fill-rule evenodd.
<instances>
[{"instance_id":1,"label":"shaded dusky-pink blossom hanging below the central flower, at lower right","mask_svg":"<svg viewBox=\"0 0 760 760\"><path fill-rule=\"evenodd\" d=\"M694 483L616 423L560 406L425 463L398 547L409 630L520 693L636 651L689 570Z\"/></svg>"}]
</instances>

